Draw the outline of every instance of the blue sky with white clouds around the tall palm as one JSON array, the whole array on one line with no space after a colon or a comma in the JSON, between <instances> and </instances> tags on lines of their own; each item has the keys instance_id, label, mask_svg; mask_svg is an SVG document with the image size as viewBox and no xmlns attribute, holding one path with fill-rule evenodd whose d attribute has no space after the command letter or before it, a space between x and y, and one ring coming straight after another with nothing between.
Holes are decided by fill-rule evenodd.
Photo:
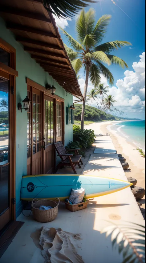
<instances>
[{"instance_id":1,"label":"blue sky with white clouds around the tall palm","mask_svg":"<svg viewBox=\"0 0 146 263\"><path fill-rule=\"evenodd\" d=\"M116 65L107 66L112 72L115 82L111 86L101 76L102 82L109 86L108 95L113 95L117 102L114 107L124 111L124 116L129 118L145 119L145 1L144 0L98 0L90 7L96 11L96 22L103 14L112 15L105 38L101 43L123 40L132 43L132 46L114 51L114 55L124 59L128 69ZM85 8L85 10L89 10ZM67 33L76 39L75 22L72 19L55 18L57 26L64 28ZM59 29L63 42L67 39ZM83 93L85 75L83 69L79 72L79 85ZM89 81L88 91L94 86ZM91 104L91 106L96 106Z\"/></svg>"}]
</instances>

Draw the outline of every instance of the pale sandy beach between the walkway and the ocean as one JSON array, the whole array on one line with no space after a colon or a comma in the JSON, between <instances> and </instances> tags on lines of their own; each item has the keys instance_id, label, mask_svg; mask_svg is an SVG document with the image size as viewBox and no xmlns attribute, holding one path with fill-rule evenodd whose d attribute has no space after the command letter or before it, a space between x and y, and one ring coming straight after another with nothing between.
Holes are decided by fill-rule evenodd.
<instances>
[{"instance_id":1,"label":"pale sandy beach between the walkway and the ocean","mask_svg":"<svg viewBox=\"0 0 146 263\"><path fill-rule=\"evenodd\" d=\"M131 170L125 171L127 177L133 177L137 180L137 185L145 189L145 158L140 155L136 150L136 145L130 143L126 138L121 137L116 131L109 130L109 125L114 122L98 122L90 125L84 126L85 129L92 129L95 131L95 134L110 134L113 144L117 153L121 153L122 156L126 158L126 161L129 164ZM142 208L145 209L145 196L138 201L142 203Z\"/></svg>"}]
</instances>

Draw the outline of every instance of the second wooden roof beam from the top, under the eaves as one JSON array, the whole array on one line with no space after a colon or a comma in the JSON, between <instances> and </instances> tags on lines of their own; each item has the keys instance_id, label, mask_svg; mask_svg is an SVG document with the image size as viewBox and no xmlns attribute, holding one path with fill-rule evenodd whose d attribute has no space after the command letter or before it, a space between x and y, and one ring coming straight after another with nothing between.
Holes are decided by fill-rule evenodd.
<instances>
[{"instance_id":1,"label":"second wooden roof beam from the top, under the eaves","mask_svg":"<svg viewBox=\"0 0 146 263\"><path fill-rule=\"evenodd\" d=\"M58 39L57 36L55 36L54 34L51 34L51 33L48 33L46 31L42 31L42 30L36 29L34 27L7 23L7 28L12 30L12 31L14 30L16 32L20 31L20 32L26 32L26 33L41 35L41 36L45 36L45 37L48 37L48 38L56 38L56 39Z\"/></svg>"}]
</instances>

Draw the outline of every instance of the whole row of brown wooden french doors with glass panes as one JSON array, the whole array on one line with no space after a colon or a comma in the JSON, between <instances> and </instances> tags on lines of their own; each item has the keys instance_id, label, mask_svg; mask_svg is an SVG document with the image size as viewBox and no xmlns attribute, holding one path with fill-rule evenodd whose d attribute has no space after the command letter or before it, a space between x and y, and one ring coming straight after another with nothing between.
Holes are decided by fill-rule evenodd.
<instances>
[{"instance_id":1,"label":"whole row of brown wooden french doors with glass panes","mask_svg":"<svg viewBox=\"0 0 146 263\"><path fill-rule=\"evenodd\" d=\"M64 138L63 102L27 86L27 175L51 174L56 155L53 143Z\"/></svg>"}]
</instances>

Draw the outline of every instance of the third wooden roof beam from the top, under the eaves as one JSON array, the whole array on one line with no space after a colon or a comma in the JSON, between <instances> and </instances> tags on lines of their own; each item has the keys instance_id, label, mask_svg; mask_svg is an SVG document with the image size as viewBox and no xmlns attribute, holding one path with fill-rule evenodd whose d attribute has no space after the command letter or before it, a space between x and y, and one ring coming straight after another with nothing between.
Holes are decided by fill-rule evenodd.
<instances>
[{"instance_id":1,"label":"third wooden roof beam from the top, under the eaves","mask_svg":"<svg viewBox=\"0 0 146 263\"><path fill-rule=\"evenodd\" d=\"M50 45L46 42L37 41L37 40L31 39L31 38L23 38L21 36L16 36L16 41L21 42L21 43L30 43L30 44L33 44L36 46L42 46L42 47L47 47L47 48L63 51L63 49L59 46Z\"/></svg>"}]
</instances>

